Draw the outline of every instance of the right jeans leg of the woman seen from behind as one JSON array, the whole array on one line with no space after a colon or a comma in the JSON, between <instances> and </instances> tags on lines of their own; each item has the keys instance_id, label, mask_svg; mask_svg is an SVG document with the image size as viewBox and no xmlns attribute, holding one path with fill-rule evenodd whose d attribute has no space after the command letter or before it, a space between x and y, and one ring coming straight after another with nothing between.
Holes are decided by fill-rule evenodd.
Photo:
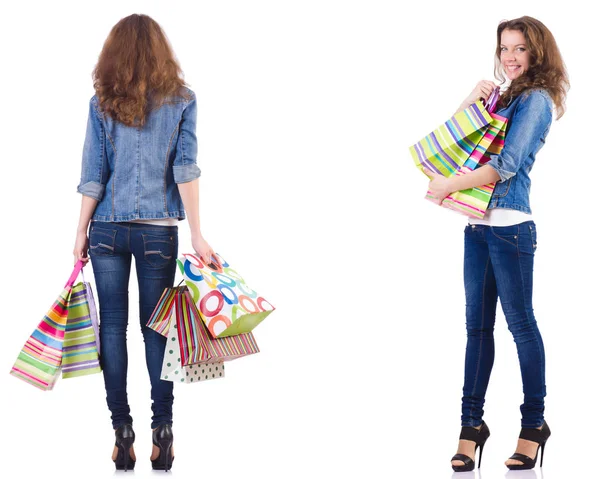
<instances>
[{"instance_id":1,"label":"right jeans leg of the woman seen from behind","mask_svg":"<svg viewBox=\"0 0 600 479\"><path fill-rule=\"evenodd\" d=\"M173 383L160 379L167 338L146 326L165 288L173 287L177 269L177 226L131 224L131 242L140 290L140 325L152 385L152 429L173 424Z\"/></svg>"}]
</instances>

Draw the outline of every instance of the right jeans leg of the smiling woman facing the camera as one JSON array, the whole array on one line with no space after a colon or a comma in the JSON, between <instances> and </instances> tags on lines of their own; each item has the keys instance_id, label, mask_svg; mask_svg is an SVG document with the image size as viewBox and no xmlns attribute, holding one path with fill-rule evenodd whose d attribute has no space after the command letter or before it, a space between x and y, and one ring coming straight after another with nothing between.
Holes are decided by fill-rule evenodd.
<instances>
[{"instance_id":1,"label":"right jeans leg of the smiling woman facing the camera","mask_svg":"<svg viewBox=\"0 0 600 479\"><path fill-rule=\"evenodd\" d=\"M540 427L546 381L544 343L532 306L535 223L493 227L489 243L500 303L519 355L524 393L521 427Z\"/></svg>"}]
</instances>

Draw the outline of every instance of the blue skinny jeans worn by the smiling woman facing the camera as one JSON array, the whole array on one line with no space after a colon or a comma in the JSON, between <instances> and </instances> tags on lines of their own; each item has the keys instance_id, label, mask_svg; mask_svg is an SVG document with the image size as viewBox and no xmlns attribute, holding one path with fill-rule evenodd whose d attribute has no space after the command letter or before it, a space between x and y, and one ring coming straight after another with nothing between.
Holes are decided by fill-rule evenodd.
<instances>
[{"instance_id":1,"label":"blue skinny jeans worn by the smiling woman facing the camera","mask_svg":"<svg viewBox=\"0 0 600 479\"><path fill-rule=\"evenodd\" d=\"M521 427L544 421L544 344L533 315L533 221L513 226L469 225L465 229L464 282L467 351L462 425L479 426L494 364L494 322L500 297L508 329L517 345L524 402Z\"/></svg>"}]
</instances>

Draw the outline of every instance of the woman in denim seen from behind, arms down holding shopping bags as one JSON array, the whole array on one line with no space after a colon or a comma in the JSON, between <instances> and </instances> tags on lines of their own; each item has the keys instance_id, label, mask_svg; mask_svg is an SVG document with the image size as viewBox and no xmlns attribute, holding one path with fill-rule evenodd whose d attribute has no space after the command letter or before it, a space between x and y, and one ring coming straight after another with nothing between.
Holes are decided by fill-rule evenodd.
<instances>
[{"instance_id":1,"label":"woman in denim seen from behind, arms down holding shopping bags","mask_svg":"<svg viewBox=\"0 0 600 479\"><path fill-rule=\"evenodd\" d=\"M126 387L133 256L151 383L152 467L169 470L173 383L160 379L166 338L145 325L163 290L173 286L177 223L186 213L194 251L207 263L213 255L200 232L196 98L164 32L147 15L130 15L112 28L93 79L73 254L84 264L91 259L98 290L100 361L116 438L113 461L127 470L136 460Z\"/></svg>"}]
</instances>

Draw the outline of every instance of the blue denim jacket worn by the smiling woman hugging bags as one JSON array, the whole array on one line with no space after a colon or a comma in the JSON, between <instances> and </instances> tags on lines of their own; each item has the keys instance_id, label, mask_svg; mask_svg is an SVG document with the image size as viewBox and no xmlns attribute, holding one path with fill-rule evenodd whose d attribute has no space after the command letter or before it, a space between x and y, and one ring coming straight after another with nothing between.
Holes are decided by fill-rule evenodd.
<instances>
[{"instance_id":1,"label":"blue denim jacket worn by the smiling woman hugging bags","mask_svg":"<svg viewBox=\"0 0 600 479\"><path fill-rule=\"evenodd\" d=\"M504 148L486 164L500 175L488 209L509 208L531 213L529 172L544 146L552 123L552 100L546 90L523 92L496 113L508 118Z\"/></svg>"}]
</instances>

